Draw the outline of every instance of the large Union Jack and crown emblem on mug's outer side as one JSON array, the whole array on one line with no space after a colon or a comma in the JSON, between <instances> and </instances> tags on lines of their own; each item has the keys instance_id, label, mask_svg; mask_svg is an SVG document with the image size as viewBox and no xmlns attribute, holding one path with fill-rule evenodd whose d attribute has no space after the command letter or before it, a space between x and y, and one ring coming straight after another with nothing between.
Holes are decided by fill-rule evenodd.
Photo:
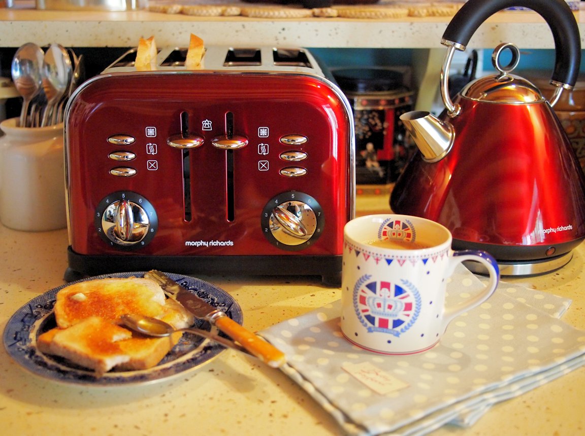
<instances>
[{"instance_id":1,"label":"large Union Jack and crown emblem on mug's outer side","mask_svg":"<svg viewBox=\"0 0 585 436\"><path fill-rule=\"evenodd\" d=\"M368 332L390 333L400 336L417 320L421 297L409 282L397 285L388 281L366 282L364 275L356 282L353 305Z\"/></svg>"}]
</instances>

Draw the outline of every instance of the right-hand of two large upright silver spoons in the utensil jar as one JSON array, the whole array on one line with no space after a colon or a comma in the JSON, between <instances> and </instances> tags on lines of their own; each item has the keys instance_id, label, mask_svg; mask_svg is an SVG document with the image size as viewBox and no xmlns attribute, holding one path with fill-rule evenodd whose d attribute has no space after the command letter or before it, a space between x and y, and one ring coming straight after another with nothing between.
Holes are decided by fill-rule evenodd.
<instances>
[{"instance_id":1,"label":"right-hand of two large upright silver spoons in the utensil jar","mask_svg":"<svg viewBox=\"0 0 585 436\"><path fill-rule=\"evenodd\" d=\"M73 67L67 50L60 44L51 44L44 54L43 89L47 96L41 127L54 123L54 111L61 97L69 89Z\"/></svg>"}]
</instances>

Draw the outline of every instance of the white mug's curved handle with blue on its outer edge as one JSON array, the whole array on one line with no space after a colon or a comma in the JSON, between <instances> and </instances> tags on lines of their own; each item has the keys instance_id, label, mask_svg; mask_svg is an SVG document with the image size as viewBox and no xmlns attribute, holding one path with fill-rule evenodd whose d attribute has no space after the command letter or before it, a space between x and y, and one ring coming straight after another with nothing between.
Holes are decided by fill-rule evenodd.
<instances>
[{"instance_id":1,"label":"white mug's curved handle with blue on its outer edge","mask_svg":"<svg viewBox=\"0 0 585 436\"><path fill-rule=\"evenodd\" d=\"M490 298L500 282L500 268L494 257L491 256L490 253L478 250L460 250L453 252L453 257L449 259L450 265L446 277L453 274L455 267L466 260L473 260L483 264L490 274L490 282L488 282L486 289L479 292L479 294L475 295L473 298L445 309L445 313L443 313L443 331L457 315L479 306Z\"/></svg>"}]
</instances>

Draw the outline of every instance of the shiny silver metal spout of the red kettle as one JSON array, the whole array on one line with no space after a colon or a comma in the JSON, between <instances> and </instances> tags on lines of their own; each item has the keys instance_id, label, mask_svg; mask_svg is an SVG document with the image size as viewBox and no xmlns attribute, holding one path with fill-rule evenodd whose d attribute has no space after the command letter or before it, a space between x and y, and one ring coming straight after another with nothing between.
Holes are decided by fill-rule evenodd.
<instances>
[{"instance_id":1,"label":"shiny silver metal spout of the red kettle","mask_svg":"<svg viewBox=\"0 0 585 436\"><path fill-rule=\"evenodd\" d=\"M441 161L455 141L455 130L448 121L433 114L414 110L400 116L426 162Z\"/></svg>"}]
</instances>

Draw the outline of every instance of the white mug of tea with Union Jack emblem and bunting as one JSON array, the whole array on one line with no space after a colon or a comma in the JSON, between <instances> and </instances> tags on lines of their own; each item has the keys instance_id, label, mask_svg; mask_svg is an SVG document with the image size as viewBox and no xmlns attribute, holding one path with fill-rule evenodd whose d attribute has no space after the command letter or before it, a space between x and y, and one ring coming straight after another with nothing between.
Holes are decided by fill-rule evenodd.
<instances>
[{"instance_id":1,"label":"white mug of tea with Union Jack emblem and bunting","mask_svg":"<svg viewBox=\"0 0 585 436\"><path fill-rule=\"evenodd\" d=\"M367 215L344 228L343 335L361 348L412 354L439 342L449 322L495 291L500 271L490 254L454 252L447 228L409 215ZM490 280L479 294L445 306L446 281L457 264L479 261Z\"/></svg>"}]
</instances>

